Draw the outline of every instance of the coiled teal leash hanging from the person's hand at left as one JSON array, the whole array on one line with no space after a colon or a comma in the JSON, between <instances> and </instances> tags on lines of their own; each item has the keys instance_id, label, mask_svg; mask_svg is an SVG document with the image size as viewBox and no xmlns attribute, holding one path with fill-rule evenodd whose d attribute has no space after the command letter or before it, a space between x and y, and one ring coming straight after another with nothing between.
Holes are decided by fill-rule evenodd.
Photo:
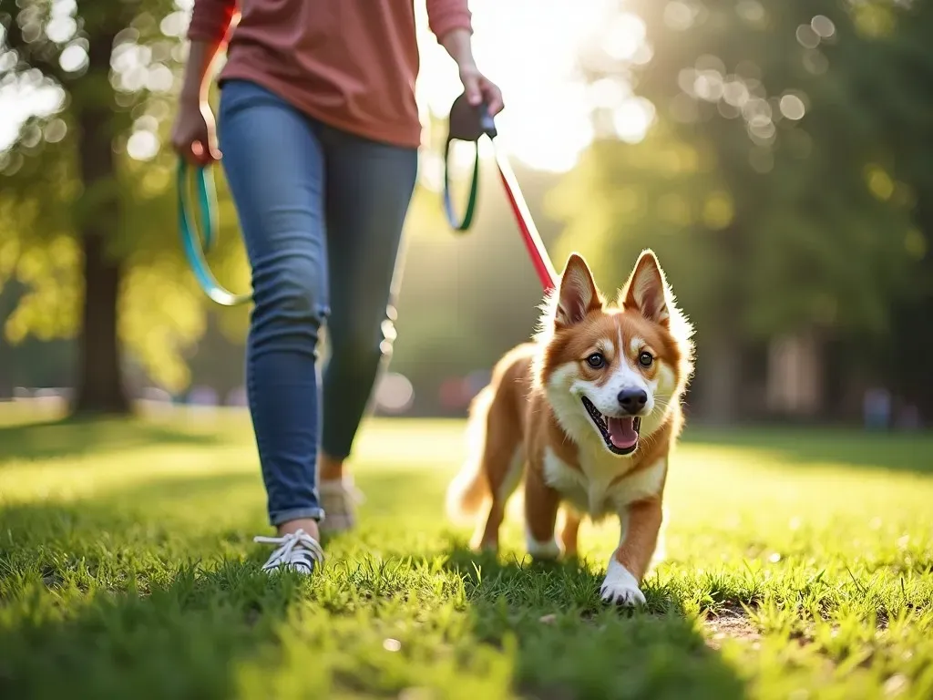
<instances>
[{"instance_id":1,"label":"coiled teal leash hanging from the person's hand at left","mask_svg":"<svg viewBox=\"0 0 933 700\"><path fill-rule=\"evenodd\" d=\"M214 188L214 176L211 175L209 168L194 168L194 185L198 194L202 232L199 231L191 215L191 203L188 198L188 163L183 158L178 159L178 231L191 271L204 293L221 306L240 306L252 301L252 295L234 294L217 282L207 260L204 259L204 254L210 251L217 241L216 189Z\"/></svg>"}]
</instances>

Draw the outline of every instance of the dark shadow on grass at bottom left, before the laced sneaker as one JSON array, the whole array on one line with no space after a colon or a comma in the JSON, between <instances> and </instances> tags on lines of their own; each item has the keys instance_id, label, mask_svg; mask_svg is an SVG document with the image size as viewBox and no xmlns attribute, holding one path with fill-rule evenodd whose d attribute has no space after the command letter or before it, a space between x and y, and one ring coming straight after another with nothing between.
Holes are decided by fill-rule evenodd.
<instances>
[{"instance_id":1,"label":"dark shadow on grass at bottom left, before the laced sneaker","mask_svg":"<svg viewBox=\"0 0 933 700\"><path fill-rule=\"evenodd\" d=\"M40 596L41 581L27 584L4 604L21 623L0 625L0 696L235 696L232 668L275 643L307 585L239 562L181 565L142 591L63 592L67 605Z\"/></svg>"}]
</instances>

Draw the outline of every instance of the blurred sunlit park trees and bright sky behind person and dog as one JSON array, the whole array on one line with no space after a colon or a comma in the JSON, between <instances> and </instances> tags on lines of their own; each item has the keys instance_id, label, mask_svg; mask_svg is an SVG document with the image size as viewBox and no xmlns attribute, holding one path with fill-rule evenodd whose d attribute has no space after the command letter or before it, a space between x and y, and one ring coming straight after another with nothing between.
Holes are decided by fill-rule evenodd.
<instances>
[{"instance_id":1,"label":"blurred sunlit park trees and bright sky behind person and dog","mask_svg":"<svg viewBox=\"0 0 933 700\"><path fill-rule=\"evenodd\" d=\"M486 161L474 228L439 196L461 91L426 30L421 175L379 413L458 416L541 290ZM0 2L0 400L242 406L248 307L181 254L168 133L191 0ZM698 328L697 423L933 419L933 5L472 0L480 69L557 269L604 290L660 256ZM216 95L215 103L216 105ZM466 195L469 147L455 151ZM248 269L218 171L217 276Z\"/></svg>"}]
</instances>

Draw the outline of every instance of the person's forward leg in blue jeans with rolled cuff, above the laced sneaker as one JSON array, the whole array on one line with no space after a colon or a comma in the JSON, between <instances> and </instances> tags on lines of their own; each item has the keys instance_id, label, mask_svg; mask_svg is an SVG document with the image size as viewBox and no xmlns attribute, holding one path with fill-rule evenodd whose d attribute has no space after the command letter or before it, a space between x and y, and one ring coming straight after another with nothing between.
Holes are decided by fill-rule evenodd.
<instances>
[{"instance_id":1,"label":"person's forward leg in blue jeans with rolled cuff, above the laced sneaker","mask_svg":"<svg viewBox=\"0 0 933 700\"><path fill-rule=\"evenodd\" d=\"M223 167L252 266L246 391L270 523L317 537L318 330L327 316L324 153L316 127L258 85L221 91Z\"/></svg>"}]
</instances>

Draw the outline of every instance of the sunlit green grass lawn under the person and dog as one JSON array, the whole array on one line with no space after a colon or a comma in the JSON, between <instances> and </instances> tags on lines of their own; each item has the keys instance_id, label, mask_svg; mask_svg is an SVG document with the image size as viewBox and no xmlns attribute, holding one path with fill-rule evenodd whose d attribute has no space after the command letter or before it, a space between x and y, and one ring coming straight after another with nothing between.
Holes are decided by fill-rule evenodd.
<instances>
[{"instance_id":1,"label":"sunlit green grass lawn under the person and dog","mask_svg":"<svg viewBox=\"0 0 933 700\"><path fill-rule=\"evenodd\" d=\"M462 453L458 422L370 423L360 528L270 580L244 416L7 420L0 696L933 696L933 437L689 431L634 614L597 595L614 525L583 566L523 562L514 514L467 553Z\"/></svg>"}]
</instances>

